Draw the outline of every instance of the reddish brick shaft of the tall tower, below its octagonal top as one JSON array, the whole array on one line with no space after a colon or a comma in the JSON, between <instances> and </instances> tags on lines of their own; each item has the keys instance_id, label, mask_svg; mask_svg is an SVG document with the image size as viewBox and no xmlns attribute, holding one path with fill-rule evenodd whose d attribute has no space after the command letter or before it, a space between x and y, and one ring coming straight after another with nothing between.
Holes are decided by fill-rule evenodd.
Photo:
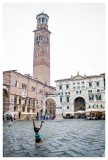
<instances>
[{"instance_id":1,"label":"reddish brick shaft of the tall tower, below its octagonal top","mask_svg":"<svg viewBox=\"0 0 108 160\"><path fill-rule=\"evenodd\" d=\"M37 44L37 36L42 39ZM48 43L45 37L48 37ZM50 33L45 29L35 32L34 36L34 57L33 57L33 77L39 81L50 85Z\"/></svg>"}]
</instances>

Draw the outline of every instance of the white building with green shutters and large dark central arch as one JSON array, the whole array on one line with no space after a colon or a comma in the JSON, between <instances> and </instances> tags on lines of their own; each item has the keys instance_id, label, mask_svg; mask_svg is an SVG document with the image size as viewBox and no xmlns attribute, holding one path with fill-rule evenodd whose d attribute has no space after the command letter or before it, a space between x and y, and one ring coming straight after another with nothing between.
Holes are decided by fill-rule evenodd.
<instances>
[{"instance_id":1,"label":"white building with green shutters and large dark central arch","mask_svg":"<svg viewBox=\"0 0 108 160\"><path fill-rule=\"evenodd\" d=\"M56 80L56 94L60 95L63 116L88 108L105 109L105 74Z\"/></svg>"}]
</instances>

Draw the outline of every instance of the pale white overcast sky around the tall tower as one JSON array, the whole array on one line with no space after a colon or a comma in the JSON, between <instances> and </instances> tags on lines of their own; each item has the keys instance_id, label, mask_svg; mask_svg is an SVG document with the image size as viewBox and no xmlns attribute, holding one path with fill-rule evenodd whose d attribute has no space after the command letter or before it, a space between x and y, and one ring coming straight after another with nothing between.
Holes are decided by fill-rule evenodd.
<instances>
[{"instance_id":1,"label":"pale white overcast sky around the tall tower","mask_svg":"<svg viewBox=\"0 0 108 160\"><path fill-rule=\"evenodd\" d=\"M49 16L51 85L55 80L105 72L104 3L7 3L3 5L3 66L33 75L36 15Z\"/></svg>"}]
</instances>

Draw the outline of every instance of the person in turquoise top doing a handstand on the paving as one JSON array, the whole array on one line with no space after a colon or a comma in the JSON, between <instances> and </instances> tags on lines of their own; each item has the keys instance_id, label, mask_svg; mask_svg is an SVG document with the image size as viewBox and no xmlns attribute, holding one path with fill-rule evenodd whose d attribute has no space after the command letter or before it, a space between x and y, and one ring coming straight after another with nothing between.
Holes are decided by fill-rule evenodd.
<instances>
[{"instance_id":1,"label":"person in turquoise top doing a handstand on the paving","mask_svg":"<svg viewBox=\"0 0 108 160\"><path fill-rule=\"evenodd\" d=\"M34 122L34 118L33 118L33 126L34 126L34 132L35 132L35 146L37 147L37 145L36 145L36 143L42 143L42 139L41 139L41 137L40 137L40 135L39 135L39 130L41 129L41 127L42 127L42 123L43 123L43 121L41 121L41 125L40 125L40 128L37 128L36 126L35 126L35 122Z\"/></svg>"}]
</instances>

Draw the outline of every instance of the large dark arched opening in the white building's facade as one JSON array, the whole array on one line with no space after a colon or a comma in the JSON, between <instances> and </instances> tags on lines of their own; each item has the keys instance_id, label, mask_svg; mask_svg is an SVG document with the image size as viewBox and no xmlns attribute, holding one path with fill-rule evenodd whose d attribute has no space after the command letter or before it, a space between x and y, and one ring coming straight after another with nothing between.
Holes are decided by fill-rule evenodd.
<instances>
[{"instance_id":1,"label":"large dark arched opening in the white building's facade","mask_svg":"<svg viewBox=\"0 0 108 160\"><path fill-rule=\"evenodd\" d=\"M83 97L77 97L74 100L74 112L79 111L79 110L86 110L86 102Z\"/></svg>"}]
</instances>

